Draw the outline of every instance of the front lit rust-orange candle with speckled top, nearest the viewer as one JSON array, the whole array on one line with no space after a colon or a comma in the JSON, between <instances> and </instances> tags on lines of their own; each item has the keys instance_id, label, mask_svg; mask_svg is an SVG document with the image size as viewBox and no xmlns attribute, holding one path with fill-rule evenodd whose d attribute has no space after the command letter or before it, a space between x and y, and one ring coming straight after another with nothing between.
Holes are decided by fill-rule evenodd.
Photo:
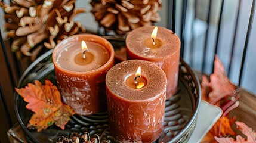
<instances>
[{"instance_id":1,"label":"front lit rust-orange candle with speckled top, nearest the viewer","mask_svg":"<svg viewBox=\"0 0 256 143\"><path fill-rule=\"evenodd\" d=\"M137 75L138 67L141 74ZM135 83L135 81L137 83ZM155 64L128 60L106 76L110 131L120 142L153 142L162 133L166 76Z\"/></svg>"}]
</instances>

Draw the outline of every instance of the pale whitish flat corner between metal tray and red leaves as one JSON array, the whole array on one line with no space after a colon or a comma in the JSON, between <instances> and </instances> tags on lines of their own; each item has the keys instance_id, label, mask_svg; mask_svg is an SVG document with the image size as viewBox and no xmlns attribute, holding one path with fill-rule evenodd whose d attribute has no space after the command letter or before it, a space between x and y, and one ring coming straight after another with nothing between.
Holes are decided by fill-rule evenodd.
<instances>
[{"instance_id":1,"label":"pale whitish flat corner between metal tray and red leaves","mask_svg":"<svg viewBox=\"0 0 256 143\"><path fill-rule=\"evenodd\" d=\"M201 100L198 118L196 119L196 126L188 142L200 142L206 133L208 133L212 126L217 122L217 120L220 119L222 113L223 110L221 110L220 107Z\"/></svg>"}]
</instances>

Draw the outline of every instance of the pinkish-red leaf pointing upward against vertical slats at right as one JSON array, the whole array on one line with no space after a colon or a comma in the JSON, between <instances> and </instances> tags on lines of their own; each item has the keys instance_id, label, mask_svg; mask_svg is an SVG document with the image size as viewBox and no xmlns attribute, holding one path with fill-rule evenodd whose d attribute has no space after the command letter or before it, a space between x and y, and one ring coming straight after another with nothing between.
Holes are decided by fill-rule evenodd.
<instances>
[{"instance_id":1,"label":"pinkish-red leaf pointing upward against vertical slats at right","mask_svg":"<svg viewBox=\"0 0 256 143\"><path fill-rule=\"evenodd\" d=\"M211 87L212 91L209 92L209 101L212 104L215 104L215 101L219 101L226 95L232 95L236 89L236 86L226 76L224 66L217 55L214 60L214 73L211 74L210 81L209 87Z\"/></svg>"}]
</instances>

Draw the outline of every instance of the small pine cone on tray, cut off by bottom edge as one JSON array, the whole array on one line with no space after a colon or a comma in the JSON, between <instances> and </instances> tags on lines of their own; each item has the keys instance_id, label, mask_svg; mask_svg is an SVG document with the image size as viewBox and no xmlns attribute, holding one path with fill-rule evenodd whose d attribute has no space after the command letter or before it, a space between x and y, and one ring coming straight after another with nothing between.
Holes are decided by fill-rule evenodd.
<instances>
[{"instance_id":1,"label":"small pine cone on tray, cut off by bottom edge","mask_svg":"<svg viewBox=\"0 0 256 143\"><path fill-rule=\"evenodd\" d=\"M98 135L90 137L90 134L87 132L81 135L76 132L70 132L69 138L61 136L55 143L100 143L100 137ZM101 141L101 143L110 143L110 141Z\"/></svg>"}]
</instances>

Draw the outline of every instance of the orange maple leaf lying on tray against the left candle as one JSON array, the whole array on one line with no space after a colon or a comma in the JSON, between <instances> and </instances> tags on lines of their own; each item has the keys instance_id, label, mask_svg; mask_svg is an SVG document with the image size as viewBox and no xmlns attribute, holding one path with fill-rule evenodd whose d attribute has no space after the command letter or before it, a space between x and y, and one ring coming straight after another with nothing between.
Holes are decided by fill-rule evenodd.
<instances>
[{"instance_id":1,"label":"orange maple leaf lying on tray against the left candle","mask_svg":"<svg viewBox=\"0 0 256 143\"><path fill-rule=\"evenodd\" d=\"M45 80L44 86L35 80L35 84L29 83L25 88L15 89L24 101L28 102L26 108L35 113L30 118L27 127L35 126L38 132L53 123L64 129L70 116L75 114L69 105L63 104L60 92L50 80Z\"/></svg>"}]
</instances>

